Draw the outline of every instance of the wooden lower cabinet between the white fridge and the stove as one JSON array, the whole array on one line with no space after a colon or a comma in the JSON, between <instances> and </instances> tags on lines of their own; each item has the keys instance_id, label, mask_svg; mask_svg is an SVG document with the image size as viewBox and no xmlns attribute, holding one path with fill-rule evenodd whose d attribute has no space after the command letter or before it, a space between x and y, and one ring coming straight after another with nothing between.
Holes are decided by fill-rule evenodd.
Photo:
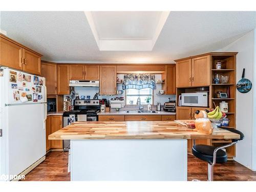
<instances>
[{"instance_id":1,"label":"wooden lower cabinet between the white fridge and the stove","mask_svg":"<svg viewBox=\"0 0 256 192\"><path fill-rule=\"evenodd\" d=\"M62 129L62 115L50 115L46 120L46 151L62 148L62 140L49 140L48 136Z\"/></svg>"}]
</instances>

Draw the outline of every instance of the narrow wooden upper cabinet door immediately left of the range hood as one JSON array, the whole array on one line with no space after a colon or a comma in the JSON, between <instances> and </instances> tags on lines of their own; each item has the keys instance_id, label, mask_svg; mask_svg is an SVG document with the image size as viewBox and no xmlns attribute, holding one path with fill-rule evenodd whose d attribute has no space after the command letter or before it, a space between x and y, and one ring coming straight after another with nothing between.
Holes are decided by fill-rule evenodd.
<instances>
[{"instance_id":1,"label":"narrow wooden upper cabinet door immediately left of the range hood","mask_svg":"<svg viewBox=\"0 0 256 192\"><path fill-rule=\"evenodd\" d=\"M69 66L57 66L57 94L69 94Z\"/></svg>"}]
</instances>

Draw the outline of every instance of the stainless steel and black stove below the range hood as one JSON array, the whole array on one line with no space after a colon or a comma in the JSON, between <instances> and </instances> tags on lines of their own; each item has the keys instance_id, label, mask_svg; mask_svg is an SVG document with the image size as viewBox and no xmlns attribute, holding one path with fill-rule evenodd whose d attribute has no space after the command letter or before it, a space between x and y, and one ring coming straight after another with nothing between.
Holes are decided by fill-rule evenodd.
<instances>
[{"instance_id":1,"label":"stainless steel and black stove below the range hood","mask_svg":"<svg viewBox=\"0 0 256 192\"><path fill-rule=\"evenodd\" d=\"M63 113L63 126L75 121L98 121L99 99L74 99L74 110ZM70 140L63 140L63 151L69 151Z\"/></svg>"}]
</instances>

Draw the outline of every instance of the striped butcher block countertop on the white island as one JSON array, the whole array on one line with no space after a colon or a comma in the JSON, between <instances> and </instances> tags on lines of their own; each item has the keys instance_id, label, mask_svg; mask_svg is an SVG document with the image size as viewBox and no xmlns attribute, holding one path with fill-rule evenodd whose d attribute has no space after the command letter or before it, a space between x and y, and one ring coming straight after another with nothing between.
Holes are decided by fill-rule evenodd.
<instances>
[{"instance_id":1,"label":"striped butcher block countertop on the white island","mask_svg":"<svg viewBox=\"0 0 256 192\"><path fill-rule=\"evenodd\" d=\"M174 121L91 121L75 122L49 135L60 139L238 139L238 134L222 130L212 135L198 133Z\"/></svg>"}]
</instances>

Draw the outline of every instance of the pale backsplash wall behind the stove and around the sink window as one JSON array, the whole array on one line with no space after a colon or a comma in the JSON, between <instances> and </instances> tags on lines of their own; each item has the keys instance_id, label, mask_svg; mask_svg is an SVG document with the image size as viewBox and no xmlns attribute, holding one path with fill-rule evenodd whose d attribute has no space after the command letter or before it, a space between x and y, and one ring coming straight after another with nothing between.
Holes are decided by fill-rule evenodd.
<instances>
[{"instance_id":1,"label":"pale backsplash wall behind the stove and around the sink window","mask_svg":"<svg viewBox=\"0 0 256 192\"><path fill-rule=\"evenodd\" d=\"M117 74L117 77L120 79L123 79L124 74ZM155 78L156 81L158 79L161 80L161 74L155 74ZM175 95L157 95L157 92L159 90L161 90L161 86L162 84L157 84L157 88L154 90L154 104L152 105L152 110L156 109L156 104L158 102L161 103L161 105L163 105L165 102L167 102L170 98L171 100L175 100L176 96ZM117 90L122 90L122 84L117 84ZM79 93L79 97L81 98L81 96L85 96L85 98L87 98L87 96L90 96L90 99L93 99L94 95L99 92L99 88L98 87L75 87L75 92ZM66 96L68 95L64 95L64 99L66 98ZM123 97L125 99L125 90L123 92L123 94L119 94L119 95L99 95L99 99L105 98L105 99L109 99L111 100L111 98L116 98L116 97ZM125 101L124 101L125 103ZM129 106L126 105L124 108L120 109L120 110L124 110L126 108L129 108L129 110L131 109L137 109L137 106ZM113 109L114 110L114 109Z\"/></svg>"}]
</instances>

